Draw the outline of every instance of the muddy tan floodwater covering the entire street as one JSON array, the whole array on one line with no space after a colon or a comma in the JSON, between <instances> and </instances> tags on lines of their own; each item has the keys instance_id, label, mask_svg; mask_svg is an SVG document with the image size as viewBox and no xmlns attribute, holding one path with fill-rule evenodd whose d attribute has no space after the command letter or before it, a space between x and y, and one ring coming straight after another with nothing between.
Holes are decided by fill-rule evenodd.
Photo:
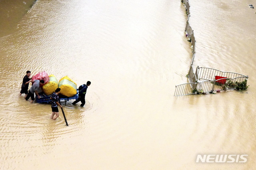
<instances>
[{"instance_id":1,"label":"muddy tan floodwater covering the entire street","mask_svg":"<svg viewBox=\"0 0 256 170\"><path fill-rule=\"evenodd\" d=\"M247 91L174 97L192 61L180 0L0 0L0 170L253 170L255 2L189 3L194 66L248 75ZM68 127L19 96L27 70L92 82L84 107L62 103Z\"/></svg>"}]
</instances>

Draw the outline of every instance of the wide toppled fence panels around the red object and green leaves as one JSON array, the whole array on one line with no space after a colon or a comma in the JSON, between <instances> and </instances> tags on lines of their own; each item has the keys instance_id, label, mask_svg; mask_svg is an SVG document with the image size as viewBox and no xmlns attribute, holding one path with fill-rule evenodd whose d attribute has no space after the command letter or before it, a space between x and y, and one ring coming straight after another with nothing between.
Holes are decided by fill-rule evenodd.
<instances>
[{"instance_id":1,"label":"wide toppled fence panels around the red object and green leaves","mask_svg":"<svg viewBox=\"0 0 256 170\"><path fill-rule=\"evenodd\" d=\"M213 93L214 91L226 91L236 89L241 83L247 83L248 76L220 71L207 67L197 67L196 74L193 67L190 66L188 80L190 83L184 83L175 86L174 96L192 95L198 93Z\"/></svg>"}]
</instances>

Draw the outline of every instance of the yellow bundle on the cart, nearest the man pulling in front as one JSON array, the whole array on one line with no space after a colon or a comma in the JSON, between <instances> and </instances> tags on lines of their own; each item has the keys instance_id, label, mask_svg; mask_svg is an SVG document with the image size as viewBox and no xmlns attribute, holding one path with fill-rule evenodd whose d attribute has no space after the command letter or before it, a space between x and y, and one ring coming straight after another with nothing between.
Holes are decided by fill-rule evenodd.
<instances>
[{"instance_id":1,"label":"yellow bundle on the cart, nearest the man pulling in front","mask_svg":"<svg viewBox=\"0 0 256 170\"><path fill-rule=\"evenodd\" d=\"M62 77L59 81L60 94L67 97L76 95L76 83L68 76Z\"/></svg>"}]
</instances>

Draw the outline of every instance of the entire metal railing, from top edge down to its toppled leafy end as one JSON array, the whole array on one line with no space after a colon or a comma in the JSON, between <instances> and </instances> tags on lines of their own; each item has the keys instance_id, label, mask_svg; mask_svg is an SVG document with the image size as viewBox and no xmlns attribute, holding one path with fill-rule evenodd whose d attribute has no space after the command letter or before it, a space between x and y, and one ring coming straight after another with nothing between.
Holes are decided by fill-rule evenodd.
<instances>
[{"instance_id":1,"label":"entire metal railing, from top edge down to its toppled leafy end","mask_svg":"<svg viewBox=\"0 0 256 170\"><path fill-rule=\"evenodd\" d=\"M188 20L190 17L190 5L188 0L182 0ZM190 83L184 83L175 86L174 96L179 95L192 95L198 93L213 93L214 91L218 90L230 90L235 89L239 83L246 81L248 76L228 72L228 71L220 71L217 69L207 68L207 67L196 67L196 72L193 69L193 62L196 53L196 40L194 37L194 30L192 30L189 22L187 20L186 23L186 37L189 38L188 41L191 42L192 45L192 62L190 65L190 69L188 71L188 81ZM217 80L216 80L217 79Z\"/></svg>"}]
</instances>

